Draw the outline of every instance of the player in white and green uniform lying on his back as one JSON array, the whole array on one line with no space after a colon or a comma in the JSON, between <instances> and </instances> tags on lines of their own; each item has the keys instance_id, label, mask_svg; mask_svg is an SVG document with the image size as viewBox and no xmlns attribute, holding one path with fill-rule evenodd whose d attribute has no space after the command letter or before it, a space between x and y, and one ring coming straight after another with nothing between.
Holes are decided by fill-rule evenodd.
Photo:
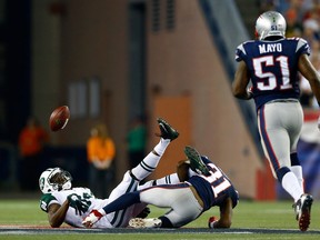
<instances>
[{"instance_id":1,"label":"player in white and green uniform lying on his back","mask_svg":"<svg viewBox=\"0 0 320 240\"><path fill-rule=\"evenodd\" d=\"M43 171L39 179L40 190L43 196L40 208L48 213L49 223L52 228L59 228L63 222L72 227L83 228L83 219L92 209L99 209L116 200L126 192L136 191L150 186L180 182L177 173L164 178L139 184L157 168L161 156L169 143L178 138L179 132L163 119L158 119L160 128L160 142L154 149L133 169L127 171L122 181L112 190L109 199L97 199L88 188L72 188L72 177L60 168L50 168ZM146 217L150 211L147 204L134 204L124 210L107 214L92 228L123 228L134 217Z\"/></svg>"}]
</instances>

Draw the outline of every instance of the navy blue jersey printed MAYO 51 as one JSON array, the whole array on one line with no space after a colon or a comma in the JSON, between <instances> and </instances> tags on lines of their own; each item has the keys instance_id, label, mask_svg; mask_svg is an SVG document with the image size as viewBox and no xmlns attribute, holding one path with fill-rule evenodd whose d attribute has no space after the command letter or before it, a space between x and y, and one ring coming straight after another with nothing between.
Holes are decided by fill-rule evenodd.
<instances>
[{"instance_id":1,"label":"navy blue jersey printed MAYO 51","mask_svg":"<svg viewBox=\"0 0 320 240\"><path fill-rule=\"evenodd\" d=\"M237 48L236 60L247 64L257 109L272 100L299 99L298 61L301 54L310 54L308 42L301 38L252 40Z\"/></svg>"}]
</instances>

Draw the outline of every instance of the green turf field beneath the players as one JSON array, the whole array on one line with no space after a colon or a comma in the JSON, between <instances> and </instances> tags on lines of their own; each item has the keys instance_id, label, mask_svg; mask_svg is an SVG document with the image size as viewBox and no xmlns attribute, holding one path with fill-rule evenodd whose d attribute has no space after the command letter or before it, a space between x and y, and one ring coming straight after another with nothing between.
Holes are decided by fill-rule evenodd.
<instances>
[{"instance_id":1,"label":"green turf field beneath the players","mask_svg":"<svg viewBox=\"0 0 320 240\"><path fill-rule=\"evenodd\" d=\"M218 216L218 208L206 212L197 221L186 226L186 228L194 228L196 231L184 232L173 230L172 232L59 232L48 233L40 232L21 232L8 233L1 232L1 228L17 226L29 227L48 227L47 214L39 209L38 200L0 200L0 239L320 239L320 202L312 206L312 218L310 229L307 232L298 231L297 221L294 220L293 210L290 201L276 202L251 202L240 201L234 209L233 223L230 230L219 230L208 232L197 232L197 228L207 228L209 216ZM151 216L161 214L163 209L151 208ZM247 231L248 230L248 231ZM253 232L252 232L253 230ZM258 230L258 232L257 232ZM261 232L259 232L262 230ZM266 231L263 231L266 230ZM274 230L274 231L273 231ZM284 231L282 231L284 230Z\"/></svg>"}]
</instances>

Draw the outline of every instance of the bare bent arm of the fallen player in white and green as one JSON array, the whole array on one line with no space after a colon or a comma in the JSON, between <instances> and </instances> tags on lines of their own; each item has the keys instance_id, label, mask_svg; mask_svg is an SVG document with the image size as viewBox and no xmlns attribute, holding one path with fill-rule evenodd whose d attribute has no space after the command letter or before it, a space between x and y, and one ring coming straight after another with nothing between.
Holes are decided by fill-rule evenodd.
<instances>
[{"instance_id":1,"label":"bare bent arm of the fallen player in white and green","mask_svg":"<svg viewBox=\"0 0 320 240\"><path fill-rule=\"evenodd\" d=\"M66 200L62 206L57 203L49 206L48 219L52 228L59 228L63 223L68 209L69 209L68 200Z\"/></svg>"}]
</instances>

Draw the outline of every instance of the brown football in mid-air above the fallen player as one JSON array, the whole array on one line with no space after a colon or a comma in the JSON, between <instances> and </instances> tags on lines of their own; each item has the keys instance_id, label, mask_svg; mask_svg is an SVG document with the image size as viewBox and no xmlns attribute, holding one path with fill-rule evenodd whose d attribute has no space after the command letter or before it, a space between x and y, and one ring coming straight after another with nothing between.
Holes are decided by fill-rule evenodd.
<instances>
[{"instance_id":1,"label":"brown football in mid-air above the fallen player","mask_svg":"<svg viewBox=\"0 0 320 240\"><path fill-rule=\"evenodd\" d=\"M63 129L70 119L70 110L68 106L60 106L56 108L49 119L49 127L51 131L59 131Z\"/></svg>"}]
</instances>

